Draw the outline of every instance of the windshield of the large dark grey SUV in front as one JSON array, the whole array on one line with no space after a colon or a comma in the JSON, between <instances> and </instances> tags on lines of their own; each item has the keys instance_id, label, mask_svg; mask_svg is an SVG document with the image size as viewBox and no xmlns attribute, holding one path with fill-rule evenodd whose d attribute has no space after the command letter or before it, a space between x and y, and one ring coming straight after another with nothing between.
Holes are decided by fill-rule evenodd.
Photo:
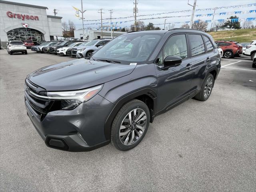
<instances>
[{"instance_id":1,"label":"windshield of the large dark grey SUV in front","mask_svg":"<svg viewBox=\"0 0 256 192\"><path fill-rule=\"evenodd\" d=\"M108 42L93 58L146 61L160 40L160 34L127 34Z\"/></svg>"}]
</instances>

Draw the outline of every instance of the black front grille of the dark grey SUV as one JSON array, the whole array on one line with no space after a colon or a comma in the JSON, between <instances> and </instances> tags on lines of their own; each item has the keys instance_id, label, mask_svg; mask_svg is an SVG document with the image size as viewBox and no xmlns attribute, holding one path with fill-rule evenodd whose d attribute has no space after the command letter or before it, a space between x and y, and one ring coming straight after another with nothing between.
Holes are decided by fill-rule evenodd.
<instances>
[{"instance_id":1,"label":"black front grille of the dark grey SUV","mask_svg":"<svg viewBox=\"0 0 256 192\"><path fill-rule=\"evenodd\" d=\"M25 103L30 110L32 109L31 112L39 121L42 121L48 112L58 110L61 107L61 101L36 97L34 94L37 93L28 84L25 83L24 88Z\"/></svg>"}]
</instances>

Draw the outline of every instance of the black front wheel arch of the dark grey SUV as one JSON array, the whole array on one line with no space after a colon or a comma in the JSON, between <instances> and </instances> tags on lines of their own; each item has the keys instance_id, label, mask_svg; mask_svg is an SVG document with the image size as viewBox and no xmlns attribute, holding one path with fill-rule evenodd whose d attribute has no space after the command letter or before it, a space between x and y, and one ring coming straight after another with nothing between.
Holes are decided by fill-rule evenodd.
<instances>
[{"instance_id":1,"label":"black front wheel arch of the dark grey SUV","mask_svg":"<svg viewBox=\"0 0 256 192\"><path fill-rule=\"evenodd\" d=\"M156 104L157 104L156 93L150 88L144 88L144 89L138 90L136 92L132 92L132 93L127 94L126 96L122 97L120 100L118 100L118 102L116 103L116 105L114 106L112 111L110 112L110 114L104 124L104 134L105 134L106 140L110 139L111 125L112 125L112 122L113 122L116 114L118 113L120 108L122 108L122 106L124 106L124 104L126 104L127 102L129 102L130 100L133 100L133 99L141 100L148 106L148 108L150 110L150 122L151 123L153 122L155 114L156 114Z\"/></svg>"}]
</instances>

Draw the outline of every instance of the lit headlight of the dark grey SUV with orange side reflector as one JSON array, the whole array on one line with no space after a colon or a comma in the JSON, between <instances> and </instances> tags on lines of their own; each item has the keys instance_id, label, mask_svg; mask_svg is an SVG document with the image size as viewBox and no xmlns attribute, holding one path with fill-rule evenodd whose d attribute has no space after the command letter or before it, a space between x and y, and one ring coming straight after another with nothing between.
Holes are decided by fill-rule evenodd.
<instances>
[{"instance_id":1,"label":"lit headlight of the dark grey SUV with orange side reflector","mask_svg":"<svg viewBox=\"0 0 256 192\"><path fill-rule=\"evenodd\" d=\"M103 85L78 91L63 91L63 92L47 92L47 98L52 100L62 100L62 109L74 109L83 102L93 98Z\"/></svg>"}]
</instances>

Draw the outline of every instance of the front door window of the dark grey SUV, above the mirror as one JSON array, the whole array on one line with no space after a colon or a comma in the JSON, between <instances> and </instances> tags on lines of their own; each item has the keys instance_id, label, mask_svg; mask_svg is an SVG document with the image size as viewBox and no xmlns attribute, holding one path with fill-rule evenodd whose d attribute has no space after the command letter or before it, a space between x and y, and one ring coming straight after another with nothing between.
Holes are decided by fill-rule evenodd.
<instances>
[{"instance_id":1,"label":"front door window of the dark grey SUV, above the mirror","mask_svg":"<svg viewBox=\"0 0 256 192\"><path fill-rule=\"evenodd\" d=\"M182 59L188 58L188 48L185 34L174 35L168 40L163 49L162 61L167 56L176 56Z\"/></svg>"}]
</instances>

